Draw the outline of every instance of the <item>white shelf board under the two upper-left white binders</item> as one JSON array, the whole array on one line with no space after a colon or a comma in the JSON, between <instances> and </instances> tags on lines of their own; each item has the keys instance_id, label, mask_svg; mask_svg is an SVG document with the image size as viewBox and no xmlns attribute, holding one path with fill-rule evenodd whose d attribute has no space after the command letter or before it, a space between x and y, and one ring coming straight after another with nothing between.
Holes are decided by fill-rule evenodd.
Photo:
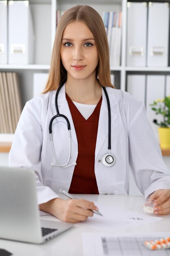
<instances>
[{"instance_id":1,"label":"white shelf board under the two upper-left white binders","mask_svg":"<svg viewBox=\"0 0 170 256\"><path fill-rule=\"evenodd\" d=\"M50 65L0 65L0 70L49 70Z\"/></svg>"}]
</instances>

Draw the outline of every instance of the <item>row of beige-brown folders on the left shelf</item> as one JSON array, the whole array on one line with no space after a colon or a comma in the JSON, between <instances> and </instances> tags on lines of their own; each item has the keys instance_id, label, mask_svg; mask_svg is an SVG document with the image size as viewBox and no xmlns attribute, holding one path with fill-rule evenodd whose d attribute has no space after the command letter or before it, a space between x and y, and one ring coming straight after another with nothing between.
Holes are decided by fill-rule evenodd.
<instances>
[{"instance_id":1,"label":"row of beige-brown folders on the left shelf","mask_svg":"<svg viewBox=\"0 0 170 256\"><path fill-rule=\"evenodd\" d=\"M0 72L0 133L14 133L21 115L18 77Z\"/></svg>"}]
</instances>

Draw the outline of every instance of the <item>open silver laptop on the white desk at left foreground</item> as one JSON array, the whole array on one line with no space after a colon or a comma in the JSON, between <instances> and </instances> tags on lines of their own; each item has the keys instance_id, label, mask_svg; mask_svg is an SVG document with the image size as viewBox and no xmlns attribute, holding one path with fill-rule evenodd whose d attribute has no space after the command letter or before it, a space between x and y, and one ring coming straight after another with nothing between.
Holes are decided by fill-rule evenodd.
<instances>
[{"instance_id":1,"label":"open silver laptop on the white desk at left foreground","mask_svg":"<svg viewBox=\"0 0 170 256\"><path fill-rule=\"evenodd\" d=\"M40 244L71 227L40 220L34 171L0 167L0 238Z\"/></svg>"}]
</instances>

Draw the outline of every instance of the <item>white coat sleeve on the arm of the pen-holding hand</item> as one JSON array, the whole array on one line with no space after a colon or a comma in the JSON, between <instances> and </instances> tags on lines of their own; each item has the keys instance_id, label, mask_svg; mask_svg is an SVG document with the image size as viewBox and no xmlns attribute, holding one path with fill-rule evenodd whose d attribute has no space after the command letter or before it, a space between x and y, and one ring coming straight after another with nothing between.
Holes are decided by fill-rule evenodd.
<instances>
[{"instance_id":1,"label":"white coat sleeve on the arm of the pen-holding hand","mask_svg":"<svg viewBox=\"0 0 170 256\"><path fill-rule=\"evenodd\" d=\"M41 149L43 136L41 111L41 107L35 109L30 102L26 103L9 152L9 166L25 167L35 171L38 204L58 197L52 189L42 183Z\"/></svg>"}]
</instances>

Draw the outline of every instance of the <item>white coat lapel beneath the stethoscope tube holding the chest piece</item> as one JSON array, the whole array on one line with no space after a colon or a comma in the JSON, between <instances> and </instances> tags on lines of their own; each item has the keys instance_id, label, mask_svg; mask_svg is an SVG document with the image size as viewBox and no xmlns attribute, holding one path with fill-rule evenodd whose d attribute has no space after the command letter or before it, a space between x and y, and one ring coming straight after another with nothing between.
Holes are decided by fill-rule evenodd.
<instances>
[{"instance_id":1,"label":"white coat lapel beneath the stethoscope tube holding the chest piece","mask_svg":"<svg viewBox=\"0 0 170 256\"><path fill-rule=\"evenodd\" d=\"M113 88L107 87L106 90L107 90L109 101L110 101L111 132L112 132L112 127L117 119L117 113L114 112L114 107L117 105L117 99L115 97ZM99 115L95 159L97 158L99 150L102 148L102 145L104 144L104 141L107 136L108 136L108 106L107 106L107 100L106 100L104 90L102 89L102 106L101 106L100 115ZM107 152L108 152L108 148L106 148L106 153Z\"/></svg>"}]
</instances>

